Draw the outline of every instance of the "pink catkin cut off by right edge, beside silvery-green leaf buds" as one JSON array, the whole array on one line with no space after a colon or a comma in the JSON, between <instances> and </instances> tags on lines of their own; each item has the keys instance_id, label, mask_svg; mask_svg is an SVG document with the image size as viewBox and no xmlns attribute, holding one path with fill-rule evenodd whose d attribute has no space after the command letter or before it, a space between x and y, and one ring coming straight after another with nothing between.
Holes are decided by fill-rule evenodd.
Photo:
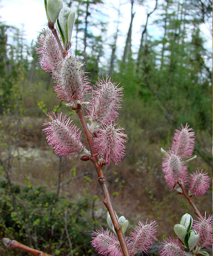
<instances>
[{"instance_id":1,"label":"pink catkin cut off by right edge, beside silvery-green leaf buds","mask_svg":"<svg viewBox=\"0 0 213 256\"><path fill-rule=\"evenodd\" d=\"M211 247L213 240L212 240L212 215L209 215L209 217L205 216L203 220L198 218L199 221L194 221L192 229L195 229L197 233L199 233L199 238L197 245L199 247Z\"/></svg>"}]
</instances>

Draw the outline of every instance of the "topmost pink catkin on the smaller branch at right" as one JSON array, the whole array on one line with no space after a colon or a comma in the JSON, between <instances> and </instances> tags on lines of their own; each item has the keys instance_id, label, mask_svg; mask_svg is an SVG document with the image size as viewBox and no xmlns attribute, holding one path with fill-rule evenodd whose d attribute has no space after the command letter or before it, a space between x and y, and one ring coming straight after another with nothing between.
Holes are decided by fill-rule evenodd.
<instances>
[{"instance_id":1,"label":"topmost pink catkin on the smaller branch at right","mask_svg":"<svg viewBox=\"0 0 213 256\"><path fill-rule=\"evenodd\" d=\"M192 156L195 146L195 133L192 128L186 123L183 127L181 124L181 131L176 130L173 137L172 150L176 155L186 159Z\"/></svg>"}]
</instances>

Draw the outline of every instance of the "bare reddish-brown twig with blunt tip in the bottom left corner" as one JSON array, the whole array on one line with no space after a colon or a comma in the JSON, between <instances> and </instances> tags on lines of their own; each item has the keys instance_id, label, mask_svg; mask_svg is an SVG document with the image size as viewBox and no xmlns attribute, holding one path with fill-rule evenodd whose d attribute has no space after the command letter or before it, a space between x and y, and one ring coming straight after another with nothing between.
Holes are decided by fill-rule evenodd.
<instances>
[{"instance_id":1,"label":"bare reddish-brown twig with blunt tip in the bottom left corner","mask_svg":"<svg viewBox=\"0 0 213 256\"><path fill-rule=\"evenodd\" d=\"M19 243L16 240L10 240L9 238L3 238L3 243L6 247L10 247L13 249L22 249L24 251L31 252L33 255L36 255L36 256L51 256L50 254L47 254L42 251L38 251L34 248L31 248L24 244Z\"/></svg>"}]
</instances>

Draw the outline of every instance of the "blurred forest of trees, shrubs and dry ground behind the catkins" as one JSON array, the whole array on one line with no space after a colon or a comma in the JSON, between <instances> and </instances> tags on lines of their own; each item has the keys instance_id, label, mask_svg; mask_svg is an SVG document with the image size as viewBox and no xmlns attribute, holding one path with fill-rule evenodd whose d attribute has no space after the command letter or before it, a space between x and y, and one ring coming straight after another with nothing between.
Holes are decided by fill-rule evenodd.
<instances>
[{"instance_id":1,"label":"blurred forest of trees, shrubs and dry ground behind the catkins","mask_svg":"<svg viewBox=\"0 0 213 256\"><path fill-rule=\"evenodd\" d=\"M212 52L200 30L212 19L212 1L156 0L153 8L145 0L129 1L124 48L118 42L120 9L106 45L107 18L97 19L106 1L64 2L76 12L72 51L86 62L93 84L110 75L124 87L119 121L129 137L127 156L120 165L105 167L114 209L129 220L129 229L137 220L156 220L161 241L174 235L184 213L196 219L185 198L169 191L161 171L160 148L168 149L181 123L196 135L198 157L188 164L189 172L204 169L212 177ZM147 12L137 49L136 5ZM149 34L153 24L163 31L158 39ZM92 163L54 155L44 139L42 123L52 109L79 122L56 99L52 77L40 69L35 49L35 42L25 44L21 30L0 22L0 239L52 255L97 255L91 230L107 227L101 187ZM201 214L212 212L211 189L194 201ZM2 244L0 255L28 254Z\"/></svg>"}]
</instances>

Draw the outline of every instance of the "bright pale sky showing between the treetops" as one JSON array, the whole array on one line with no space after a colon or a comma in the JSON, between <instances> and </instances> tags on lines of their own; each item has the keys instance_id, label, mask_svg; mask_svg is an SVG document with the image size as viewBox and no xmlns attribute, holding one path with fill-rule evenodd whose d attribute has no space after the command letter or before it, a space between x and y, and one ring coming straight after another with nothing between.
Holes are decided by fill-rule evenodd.
<instances>
[{"instance_id":1,"label":"bright pale sky showing between the treetops","mask_svg":"<svg viewBox=\"0 0 213 256\"><path fill-rule=\"evenodd\" d=\"M121 1L121 17L119 25L119 38L117 55L121 55L123 52L125 38L130 23L130 1L128 0L107 0L104 1L106 7L100 5L100 10L105 14L105 20L107 25L107 43L112 43L112 34L116 30L117 11L112 6L118 8L119 1ZM26 44L30 45L32 40L35 42L41 29L46 28L47 19L44 8L44 0L0 0L0 20L7 25L13 25L24 31L24 37L26 38ZM134 12L136 12L133 19L133 32L132 32L132 44L133 52L139 48L142 25L146 22L146 13L150 12L155 6L155 0L149 1L149 6L145 8L137 4L134 5ZM150 17L149 33L153 38L160 38L163 34L161 27L151 25L152 20L156 18L155 13ZM212 36L208 27L203 25L201 27L204 38L207 39L206 47L212 50ZM75 35L75 34L73 34ZM110 49L106 49L110 51Z\"/></svg>"}]
</instances>

